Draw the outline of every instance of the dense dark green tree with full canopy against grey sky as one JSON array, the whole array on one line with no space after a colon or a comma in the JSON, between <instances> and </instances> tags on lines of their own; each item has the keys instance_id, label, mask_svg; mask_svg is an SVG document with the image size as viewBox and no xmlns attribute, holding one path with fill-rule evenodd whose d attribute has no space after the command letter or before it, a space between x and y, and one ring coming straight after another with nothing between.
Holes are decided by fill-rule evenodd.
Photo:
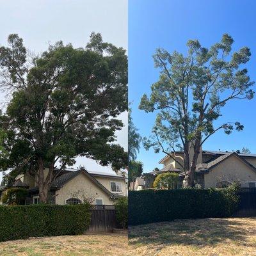
<instances>
[{"instance_id":1,"label":"dense dark green tree with full canopy against grey sky","mask_svg":"<svg viewBox=\"0 0 256 256\"><path fill-rule=\"evenodd\" d=\"M123 48L92 33L85 48L57 42L31 56L18 35L0 47L2 89L12 100L0 116L0 170L38 176L41 202L51 182L77 156L127 166L127 153L115 144L116 118L127 111L127 56ZM49 168L45 174L44 168Z\"/></svg>"}]
</instances>

